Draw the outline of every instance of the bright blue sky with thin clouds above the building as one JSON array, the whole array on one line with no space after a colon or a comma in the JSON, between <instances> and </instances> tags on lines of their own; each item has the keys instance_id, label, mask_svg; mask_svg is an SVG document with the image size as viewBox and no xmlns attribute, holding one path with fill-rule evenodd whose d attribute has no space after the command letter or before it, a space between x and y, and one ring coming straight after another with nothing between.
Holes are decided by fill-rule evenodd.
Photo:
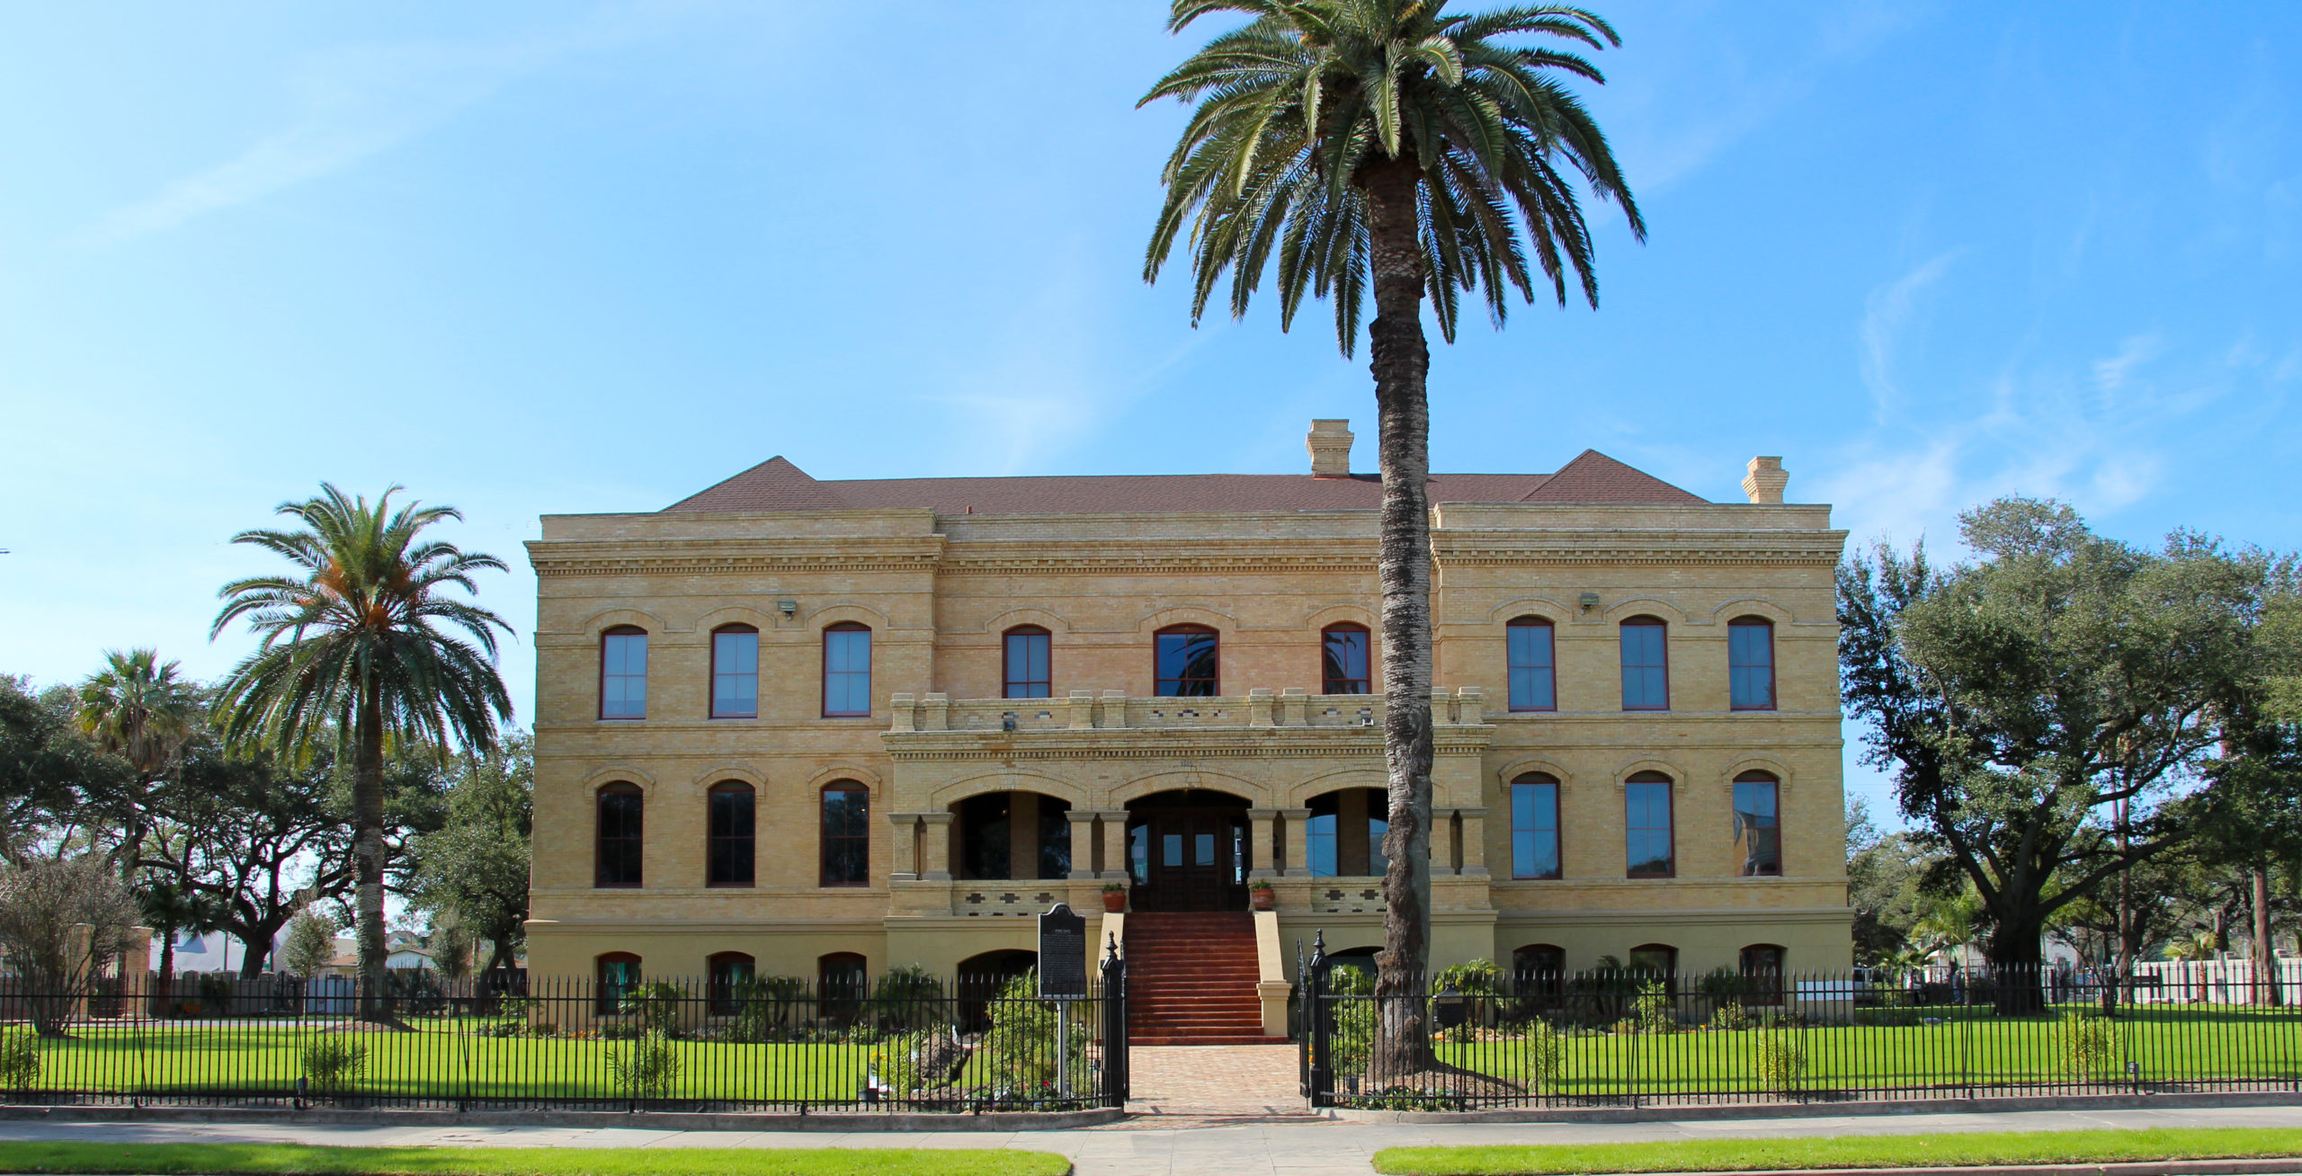
<instances>
[{"instance_id":1,"label":"bright blue sky with thin clouds above the building","mask_svg":"<svg viewBox=\"0 0 2302 1176\"><path fill-rule=\"evenodd\" d=\"M1480 7L1480 5L1464 5ZM2060 495L2277 548L2302 389L2302 9L1604 5L1653 232L1466 327L1439 469L1584 446L1858 541ZM1365 361L1190 329L1142 244L1153 0L0 7L0 670L219 674L228 545L318 481L463 506L529 697L539 513L817 476L1294 472ZM1865 780L1862 787L1874 787Z\"/></svg>"}]
</instances>

